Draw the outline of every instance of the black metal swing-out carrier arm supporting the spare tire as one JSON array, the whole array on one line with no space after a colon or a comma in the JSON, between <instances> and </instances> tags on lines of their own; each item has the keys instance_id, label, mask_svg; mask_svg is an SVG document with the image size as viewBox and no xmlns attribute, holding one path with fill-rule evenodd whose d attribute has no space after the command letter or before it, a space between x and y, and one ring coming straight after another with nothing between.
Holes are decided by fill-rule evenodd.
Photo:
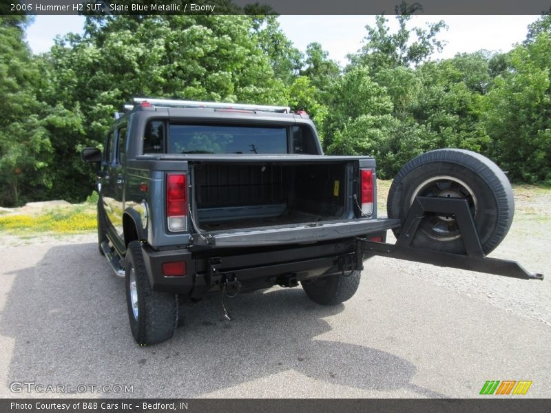
<instances>
[{"instance_id":1,"label":"black metal swing-out carrier arm supporting the spare tire","mask_svg":"<svg viewBox=\"0 0 551 413\"><path fill-rule=\"evenodd\" d=\"M413 242L415 233L419 228L419 223L427 213L446 213L455 216L466 254L442 253L411 246L411 242ZM475 229L475 222L472 221L467 201L459 198L417 197L409 210L396 244L386 244L366 239L360 239L358 243L359 249L365 257L382 255L398 260L423 262L436 266L478 271L479 273L503 275L504 277L543 279L543 274L530 273L516 261L486 257Z\"/></svg>"}]
</instances>

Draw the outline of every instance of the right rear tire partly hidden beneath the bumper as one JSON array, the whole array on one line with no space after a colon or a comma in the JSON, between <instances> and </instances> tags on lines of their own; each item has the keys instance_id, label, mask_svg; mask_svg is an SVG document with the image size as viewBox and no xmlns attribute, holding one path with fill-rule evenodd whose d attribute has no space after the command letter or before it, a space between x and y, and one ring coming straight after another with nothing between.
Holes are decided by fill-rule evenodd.
<instances>
[{"instance_id":1,"label":"right rear tire partly hidden beneath the bumper","mask_svg":"<svg viewBox=\"0 0 551 413\"><path fill-rule=\"evenodd\" d=\"M352 298L360 285L361 275L361 271L354 270L349 274L319 277L301 284L309 299L324 306L333 306Z\"/></svg>"}]
</instances>

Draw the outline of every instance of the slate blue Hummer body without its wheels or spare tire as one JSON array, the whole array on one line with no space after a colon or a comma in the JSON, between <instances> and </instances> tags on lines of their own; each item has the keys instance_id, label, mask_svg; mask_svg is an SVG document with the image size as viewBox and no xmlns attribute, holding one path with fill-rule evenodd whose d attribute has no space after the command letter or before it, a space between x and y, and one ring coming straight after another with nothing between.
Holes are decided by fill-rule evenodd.
<instances>
[{"instance_id":1,"label":"slate blue Hummer body without its wheels or spare tire","mask_svg":"<svg viewBox=\"0 0 551 413\"><path fill-rule=\"evenodd\" d=\"M271 274L264 288L342 271L345 255L362 266L355 239L384 240L399 224L377 219L375 167L369 156L325 156L302 114L141 104L105 142L98 213L121 262L129 243L141 242L154 290L198 296L220 288L213 260L243 284ZM362 170L370 173L368 213ZM185 182L181 231L170 229L169 176ZM184 262L185 276L163 275L167 262Z\"/></svg>"}]
</instances>

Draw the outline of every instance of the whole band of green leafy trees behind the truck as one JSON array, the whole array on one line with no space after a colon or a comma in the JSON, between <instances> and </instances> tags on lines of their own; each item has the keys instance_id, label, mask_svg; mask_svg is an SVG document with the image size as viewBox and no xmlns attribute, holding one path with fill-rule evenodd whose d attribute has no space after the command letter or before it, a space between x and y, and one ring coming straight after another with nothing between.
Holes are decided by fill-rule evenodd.
<instances>
[{"instance_id":1,"label":"whole band of green leafy trees behind the truck","mask_svg":"<svg viewBox=\"0 0 551 413\"><path fill-rule=\"evenodd\" d=\"M32 56L28 17L0 17L0 204L84 200L113 112L133 96L289 105L313 119L328 153L372 155L391 178L439 147L479 151L512 180L551 184L551 20L508 53L431 60L444 21L412 27L419 5L379 16L342 68L320 43L302 54L273 10L217 0L228 15L87 16L83 34Z\"/></svg>"}]
</instances>

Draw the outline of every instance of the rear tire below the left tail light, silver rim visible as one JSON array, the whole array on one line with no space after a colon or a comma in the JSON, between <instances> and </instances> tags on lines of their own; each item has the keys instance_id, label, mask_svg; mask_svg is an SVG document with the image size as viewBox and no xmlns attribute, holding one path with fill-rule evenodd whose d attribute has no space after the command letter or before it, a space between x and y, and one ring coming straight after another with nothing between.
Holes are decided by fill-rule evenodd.
<instances>
[{"instance_id":1,"label":"rear tire below the left tail light, silver rim visible","mask_svg":"<svg viewBox=\"0 0 551 413\"><path fill-rule=\"evenodd\" d=\"M130 292L133 269L138 306L136 317ZM130 328L136 342L147 346L172 337L178 326L178 296L152 290L138 241L130 242L126 250L125 285Z\"/></svg>"}]
</instances>

